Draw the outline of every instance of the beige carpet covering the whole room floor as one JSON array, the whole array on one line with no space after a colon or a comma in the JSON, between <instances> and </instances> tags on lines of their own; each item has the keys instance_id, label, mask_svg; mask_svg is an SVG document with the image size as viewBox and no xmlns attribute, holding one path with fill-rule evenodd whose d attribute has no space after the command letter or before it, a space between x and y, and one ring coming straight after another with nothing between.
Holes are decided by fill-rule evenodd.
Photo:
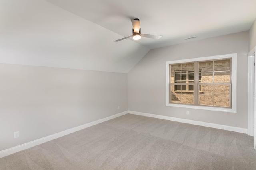
<instances>
[{"instance_id":1,"label":"beige carpet covering the whole room floor","mask_svg":"<svg viewBox=\"0 0 256 170\"><path fill-rule=\"evenodd\" d=\"M256 170L247 134L126 114L0 159L0 170Z\"/></svg>"}]
</instances>

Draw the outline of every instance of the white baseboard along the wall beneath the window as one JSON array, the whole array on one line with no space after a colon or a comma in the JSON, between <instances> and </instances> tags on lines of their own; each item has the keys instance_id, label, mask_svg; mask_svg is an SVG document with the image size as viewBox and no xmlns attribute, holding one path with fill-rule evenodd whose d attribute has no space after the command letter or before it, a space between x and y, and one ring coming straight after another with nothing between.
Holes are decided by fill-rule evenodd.
<instances>
[{"instance_id":1,"label":"white baseboard along the wall beneath the window","mask_svg":"<svg viewBox=\"0 0 256 170\"><path fill-rule=\"evenodd\" d=\"M177 122L181 122L181 123L189 123L189 124L192 124L192 125L212 127L212 128L216 128L216 129L223 129L223 130L227 130L227 131L234 131L234 132L246 133L247 134L247 129L240 128L240 127L219 125L219 124L214 124L214 123L207 123L207 122L202 122L202 121L194 121L194 120L189 120L189 119L181 119L181 118L169 117L169 116L163 116L163 115L154 115L154 114L150 114L150 113L142 113L142 112L137 112L137 111L128 111L128 113L131 113L131 114L134 114L134 115L154 117L154 118L158 118L158 119L177 121Z\"/></svg>"}]
</instances>

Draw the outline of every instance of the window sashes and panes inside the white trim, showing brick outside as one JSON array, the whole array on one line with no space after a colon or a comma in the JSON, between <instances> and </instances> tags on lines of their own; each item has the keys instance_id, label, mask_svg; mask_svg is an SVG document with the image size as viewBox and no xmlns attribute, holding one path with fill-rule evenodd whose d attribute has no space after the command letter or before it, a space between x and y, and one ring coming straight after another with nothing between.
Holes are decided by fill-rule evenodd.
<instances>
[{"instance_id":1,"label":"window sashes and panes inside the white trim, showing brick outside","mask_svg":"<svg viewBox=\"0 0 256 170\"><path fill-rule=\"evenodd\" d=\"M231 59L170 64L169 68L169 103L231 108Z\"/></svg>"}]
</instances>

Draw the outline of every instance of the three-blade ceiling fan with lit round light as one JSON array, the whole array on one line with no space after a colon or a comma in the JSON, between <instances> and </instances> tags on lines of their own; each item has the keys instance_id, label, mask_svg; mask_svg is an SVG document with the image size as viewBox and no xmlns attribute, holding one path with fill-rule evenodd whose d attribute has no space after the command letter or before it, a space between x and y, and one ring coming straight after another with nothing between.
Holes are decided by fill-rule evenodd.
<instances>
[{"instance_id":1,"label":"three-blade ceiling fan with lit round light","mask_svg":"<svg viewBox=\"0 0 256 170\"><path fill-rule=\"evenodd\" d=\"M140 20L138 18L135 18L134 20L131 20L131 21L132 21L132 35L115 40L114 42L118 42L130 37L132 37L134 40L138 40L141 37L152 38L152 39L160 39L162 37L162 35L142 34L140 30Z\"/></svg>"}]
</instances>

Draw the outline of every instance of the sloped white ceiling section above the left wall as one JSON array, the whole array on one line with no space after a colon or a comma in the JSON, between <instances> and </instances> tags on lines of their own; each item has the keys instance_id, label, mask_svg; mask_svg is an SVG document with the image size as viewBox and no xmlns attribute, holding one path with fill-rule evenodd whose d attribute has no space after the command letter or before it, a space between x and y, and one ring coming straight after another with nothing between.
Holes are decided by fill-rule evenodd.
<instances>
[{"instance_id":1,"label":"sloped white ceiling section above the left wall","mask_svg":"<svg viewBox=\"0 0 256 170\"><path fill-rule=\"evenodd\" d=\"M44 0L0 0L0 63L127 73L148 51Z\"/></svg>"}]
</instances>

